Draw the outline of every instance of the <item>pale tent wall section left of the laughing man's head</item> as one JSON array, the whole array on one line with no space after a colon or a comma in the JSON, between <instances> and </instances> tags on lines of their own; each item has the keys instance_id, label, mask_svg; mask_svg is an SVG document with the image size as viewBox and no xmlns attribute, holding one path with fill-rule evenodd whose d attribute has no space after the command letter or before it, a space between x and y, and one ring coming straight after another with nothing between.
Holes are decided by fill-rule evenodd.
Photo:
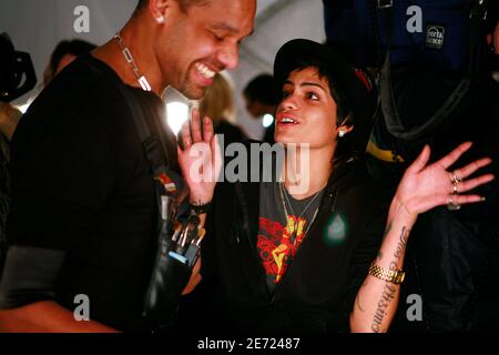
<instances>
[{"instance_id":1,"label":"pale tent wall section left of the laughing man's head","mask_svg":"<svg viewBox=\"0 0 499 355\"><path fill-rule=\"evenodd\" d=\"M103 44L126 22L136 2L136 0L2 0L0 32L9 33L17 50L31 54L40 83L50 55L61 40L79 38ZM78 19L74 9L79 6L85 6L90 11L88 33L77 33L73 28ZM30 94L20 98L18 102L26 101Z\"/></svg>"}]
</instances>

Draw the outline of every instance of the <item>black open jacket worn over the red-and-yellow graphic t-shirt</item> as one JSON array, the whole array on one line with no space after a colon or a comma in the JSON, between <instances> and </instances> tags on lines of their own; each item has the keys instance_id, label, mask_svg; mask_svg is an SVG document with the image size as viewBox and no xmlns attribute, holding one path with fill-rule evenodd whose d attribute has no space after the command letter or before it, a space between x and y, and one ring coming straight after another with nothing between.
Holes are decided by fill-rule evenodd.
<instances>
[{"instance_id":1,"label":"black open jacket worn over the red-and-yellow graphic t-shirt","mask_svg":"<svg viewBox=\"0 0 499 355\"><path fill-rule=\"evenodd\" d=\"M230 331L348 331L348 315L380 245L387 199L356 160L335 169L319 213L287 274L269 294L256 252L259 183L222 183L203 246L203 277L214 276L213 322ZM343 241L328 240L343 221Z\"/></svg>"}]
</instances>

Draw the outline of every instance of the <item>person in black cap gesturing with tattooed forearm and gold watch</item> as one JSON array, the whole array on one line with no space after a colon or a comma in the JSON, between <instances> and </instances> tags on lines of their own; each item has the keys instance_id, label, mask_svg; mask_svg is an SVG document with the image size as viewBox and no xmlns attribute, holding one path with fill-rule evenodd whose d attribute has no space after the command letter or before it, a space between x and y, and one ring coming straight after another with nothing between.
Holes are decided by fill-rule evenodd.
<instances>
[{"instance_id":1,"label":"person in black cap gesturing with tattooed forearm and gold watch","mask_svg":"<svg viewBox=\"0 0 499 355\"><path fill-rule=\"evenodd\" d=\"M285 159L271 182L216 186L201 272L215 287L210 326L386 332L417 215L479 202L467 193L493 176L469 176L491 161L449 170L471 145L464 143L427 165L426 146L385 203L356 154L367 145L368 102L354 70L326 45L293 40L278 51L274 77L283 92L275 140ZM182 152L180 162L193 185Z\"/></svg>"}]
</instances>

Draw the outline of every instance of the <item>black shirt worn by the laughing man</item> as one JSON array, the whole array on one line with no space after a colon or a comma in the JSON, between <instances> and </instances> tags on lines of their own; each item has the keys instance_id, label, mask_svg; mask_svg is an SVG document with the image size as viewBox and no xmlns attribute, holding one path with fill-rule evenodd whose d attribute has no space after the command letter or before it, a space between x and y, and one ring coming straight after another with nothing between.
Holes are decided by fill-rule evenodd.
<instances>
[{"instance_id":1,"label":"black shirt worn by the laughing man","mask_svg":"<svg viewBox=\"0 0 499 355\"><path fill-rule=\"evenodd\" d=\"M131 331L142 326L157 210L150 165L116 79L88 55L58 74L32 103L11 146L8 239L11 246L63 253L53 276L55 302L73 311L75 296L86 295L91 320ZM163 102L141 89L125 90L135 95L176 169L175 136ZM35 270L18 272L19 278L38 277ZM35 301L44 300L20 303Z\"/></svg>"}]
</instances>

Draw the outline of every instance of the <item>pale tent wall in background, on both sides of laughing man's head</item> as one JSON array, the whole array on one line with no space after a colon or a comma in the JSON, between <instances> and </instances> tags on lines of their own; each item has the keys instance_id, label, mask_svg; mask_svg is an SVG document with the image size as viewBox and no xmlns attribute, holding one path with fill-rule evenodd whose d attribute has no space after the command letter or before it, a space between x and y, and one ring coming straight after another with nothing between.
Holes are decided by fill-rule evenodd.
<instances>
[{"instance_id":1,"label":"pale tent wall in background, on both sides of laughing man's head","mask_svg":"<svg viewBox=\"0 0 499 355\"><path fill-rule=\"evenodd\" d=\"M8 32L17 50L29 52L39 82L57 43L80 38L95 44L108 41L130 18L138 0L2 0L0 32ZM271 72L278 48L292 38L323 41L322 0L258 0L254 34L243 42L234 81L237 122L251 138L261 138L263 126L246 113L241 92L261 72ZM77 33L74 9L90 10L90 32ZM31 95L33 92L30 93ZM26 101L30 94L18 100Z\"/></svg>"}]
</instances>

